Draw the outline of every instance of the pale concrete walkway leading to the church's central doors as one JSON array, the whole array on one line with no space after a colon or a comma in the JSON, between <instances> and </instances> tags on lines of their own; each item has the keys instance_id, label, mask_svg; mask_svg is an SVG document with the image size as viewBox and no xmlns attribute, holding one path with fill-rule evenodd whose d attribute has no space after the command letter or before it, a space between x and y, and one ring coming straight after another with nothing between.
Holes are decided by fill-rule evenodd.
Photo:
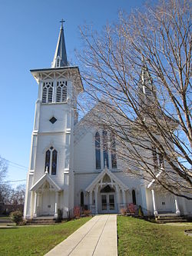
<instances>
[{"instance_id":1,"label":"pale concrete walkway leading to the church's central doors","mask_svg":"<svg viewBox=\"0 0 192 256\"><path fill-rule=\"evenodd\" d=\"M46 256L117 256L117 215L97 215Z\"/></svg>"}]
</instances>

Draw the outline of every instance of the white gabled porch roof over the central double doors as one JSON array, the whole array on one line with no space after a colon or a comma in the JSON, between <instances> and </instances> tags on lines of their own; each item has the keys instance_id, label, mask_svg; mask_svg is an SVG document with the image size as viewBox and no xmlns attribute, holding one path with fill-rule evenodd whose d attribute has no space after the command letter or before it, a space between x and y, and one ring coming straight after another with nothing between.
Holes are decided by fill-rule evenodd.
<instances>
[{"instance_id":1,"label":"white gabled porch roof over the central double doors","mask_svg":"<svg viewBox=\"0 0 192 256\"><path fill-rule=\"evenodd\" d=\"M129 188L124 185L124 183L118 178L116 177L111 171L108 170L108 168L106 168L106 165L105 165L105 168L103 171L101 171L101 173L98 175L98 177L96 177L94 179L94 181L91 182L90 185L88 185L87 188L85 188L85 191L92 191L94 190L94 187L98 184L99 181L101 181L102 178L104 178L104 175L108 175L112 181L114 181L114 183L118 184L120 186L120 188L123 188L124 190L128 190Z\"/></svg>"}]
</instances>

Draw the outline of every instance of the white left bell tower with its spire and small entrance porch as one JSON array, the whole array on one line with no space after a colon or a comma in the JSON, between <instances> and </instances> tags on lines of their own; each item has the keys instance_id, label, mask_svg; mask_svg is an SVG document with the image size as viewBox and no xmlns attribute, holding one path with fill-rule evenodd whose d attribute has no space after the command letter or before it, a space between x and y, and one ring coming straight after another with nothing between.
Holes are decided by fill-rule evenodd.
<instances>
[{"instance_id":1,"label":"white left bell tower with its spire and small entrance porch","mask_svg":"<svg viewBox=\"0 0 192 256\"><path fill-rule=\"evenodd\" d=\"M68 65L63 19L51 68L32 69L38 84L31 155L25 194L25 218L67 217L74 201L74 121L83 85L77 66Z\"/></svg>"}]
</instances>

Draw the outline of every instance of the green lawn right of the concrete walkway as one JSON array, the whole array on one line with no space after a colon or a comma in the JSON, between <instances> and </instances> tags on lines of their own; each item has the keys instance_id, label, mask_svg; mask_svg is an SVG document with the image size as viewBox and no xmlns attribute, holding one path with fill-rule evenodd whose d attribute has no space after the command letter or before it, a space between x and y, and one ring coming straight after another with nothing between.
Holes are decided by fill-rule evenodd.
<instances>
[{"instance_id":1,"label":"green lawn right of the concrete walkway","mask_svg":"<svg viewBox=\"0 0 192 256\"><path fill-rule=\"evenodd\" d=\"M119 256L191 256L192 237L184 230L187 225L155 224L148 221L118 217L118 255Z\"/></svg>"}]
</instances>

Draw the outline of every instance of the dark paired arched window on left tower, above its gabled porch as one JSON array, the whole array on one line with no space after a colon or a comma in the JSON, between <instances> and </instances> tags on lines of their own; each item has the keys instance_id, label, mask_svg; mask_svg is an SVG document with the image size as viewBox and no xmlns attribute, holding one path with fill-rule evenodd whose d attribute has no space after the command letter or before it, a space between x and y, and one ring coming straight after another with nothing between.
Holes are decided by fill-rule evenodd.
<instances>
[{"instance_id":1,"label":"dark paired arched window on left tower, above its gabled porch","mask_svg":"<svg viewBox=\"0 0 192 256\"><path fill-rule=\"evenodd\" d=\"M57 172L57 158L58 152L53 148L49 148L45 153L45 171L48 169L48 173L56 175Z\"/></svg>"}]
</instances>

